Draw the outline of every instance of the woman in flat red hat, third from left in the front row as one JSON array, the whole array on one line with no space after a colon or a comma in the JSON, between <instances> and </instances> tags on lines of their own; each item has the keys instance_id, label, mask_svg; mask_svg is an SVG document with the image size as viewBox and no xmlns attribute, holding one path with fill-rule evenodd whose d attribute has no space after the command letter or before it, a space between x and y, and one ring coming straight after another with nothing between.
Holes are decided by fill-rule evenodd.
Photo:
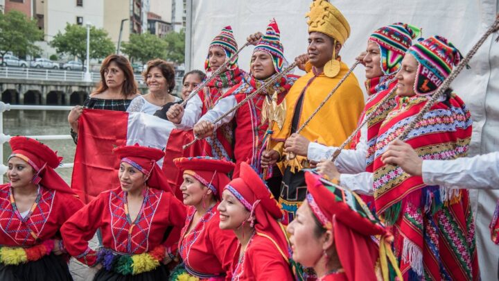
<instances>
[{"instance_id":1,"label":"woman in flat red hat, third from left in the front row","mask_svg":"<svg viewBox=\"0 0 499 281\"><path fill-rule=\"evenodd\" d=\"M174 162L183 173L180 191L188 206L179 242L183 264L178 275L183 268L200 280L231 280L232 258L238 243L233 231L218 227L217 207L234 163L211 157L182 157ZM177 278L172 276L170 280Z\"/></svg>"}]
</instances>

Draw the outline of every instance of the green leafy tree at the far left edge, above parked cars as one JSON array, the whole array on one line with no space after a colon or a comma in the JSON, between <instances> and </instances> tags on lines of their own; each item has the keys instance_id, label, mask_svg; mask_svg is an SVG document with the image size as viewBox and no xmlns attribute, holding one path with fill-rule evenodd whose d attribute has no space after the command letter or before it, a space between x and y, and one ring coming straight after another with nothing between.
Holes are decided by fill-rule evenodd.
<instances>
[{"instance_id":1,"label":"green leafy tree at the far left edge, above parked cars","mask_svg":"<svg viewBox=\"0 0 499 281\"><path fill-rule=\"evenodd\" d=\"M37 26L34 19L28 19L22 12L11 10L7 14L0 13L0 56L9 51L17 56L40 53L40 47L35 41L42 40L43 31Z\"/></svg>"}]
</instances>

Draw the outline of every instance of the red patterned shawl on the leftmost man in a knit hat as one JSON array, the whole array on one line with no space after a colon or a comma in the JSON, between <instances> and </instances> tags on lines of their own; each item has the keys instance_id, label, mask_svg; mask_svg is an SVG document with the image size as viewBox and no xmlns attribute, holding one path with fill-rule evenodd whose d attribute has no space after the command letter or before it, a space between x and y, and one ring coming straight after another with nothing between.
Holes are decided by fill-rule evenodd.
<instances>
[{"instance_id":1,"label":"red patterned shawl on the leftmost man in a knit hat","mask_svg":"<svg viewBox=\"0 0 499 281\"><path fill-rule=\"evenodd\" d=\"M222 92L223 88L238 85L243 79L244 74L244 71L241 71L236 67L236 69L229 69L213 78L213 80L208 83L207 87L204 87L204 89L199 92L201 101L203 101L201 115L204 115L208 110L213 108L213 105L215 105L218 99L224 94ZM233 157L232 144L234 142L232 127L233 124L231 123L225 124L216 130L215 137L207 137L203 141L204 153L218 159L231 160Z\"/></svg>"}]
</instances>

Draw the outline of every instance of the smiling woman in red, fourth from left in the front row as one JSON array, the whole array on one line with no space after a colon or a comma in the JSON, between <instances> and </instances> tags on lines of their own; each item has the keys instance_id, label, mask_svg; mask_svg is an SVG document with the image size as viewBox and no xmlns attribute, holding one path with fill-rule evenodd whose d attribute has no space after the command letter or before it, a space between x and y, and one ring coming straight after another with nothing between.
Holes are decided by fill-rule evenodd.
<instances>
[{"instance_id":1,"label":"smiling woman in red, fourth from left in the front row","mask_svg":"<svg viewBox=\"0 0 499 281\"><path fill-rule=\"evenodd\" d=\"M295 280L279 204L246 162L239 176L225 187L218 205L220 228L234 230L239 240L232 280Z\"/></svg>"}]
</instances>

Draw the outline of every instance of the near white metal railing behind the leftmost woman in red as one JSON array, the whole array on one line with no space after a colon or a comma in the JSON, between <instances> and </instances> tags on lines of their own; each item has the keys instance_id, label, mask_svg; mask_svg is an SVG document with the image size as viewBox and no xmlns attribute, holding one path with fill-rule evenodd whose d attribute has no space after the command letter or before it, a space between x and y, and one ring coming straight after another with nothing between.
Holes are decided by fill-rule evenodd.
<instances>
[{"instance_id":1,"label":"near white metal railing behind the leftmost woman in red","mask_svg":"<svg viewBox=\"0 0 499 281\"><path fill-rule=\"evenodd\" d=\"M3 144L8 142L10 135L3 133L3 112L8 110L64 110L70 111L72 106L57 106L57 105L11 105L0 101L0 183L3 183L3 174L7 172L8 167L3 164ZM32 139L46 140L46 139L71 139L71 135L28 135ZM58 169L72 168L73 163L64 163Z\"/></svg>"}]
</instances>

